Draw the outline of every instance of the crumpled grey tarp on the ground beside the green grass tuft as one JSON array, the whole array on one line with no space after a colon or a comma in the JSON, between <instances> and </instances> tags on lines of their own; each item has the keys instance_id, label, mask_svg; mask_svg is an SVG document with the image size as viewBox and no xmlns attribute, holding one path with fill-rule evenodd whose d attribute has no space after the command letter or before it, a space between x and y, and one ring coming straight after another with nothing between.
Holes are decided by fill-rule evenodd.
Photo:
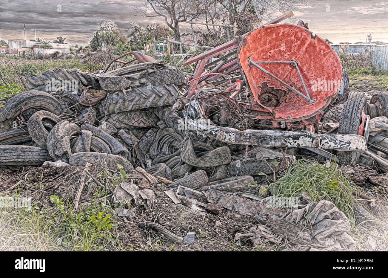
<instances>
[{"instance_id":1,"label":"crumpled grey tarp on the ground beside the green grass tuft","mask_svg":"<svg viewBox=\"0 0 388 278\"><path fill-rule=\"evenodd\" d=\"M310 203L295 210L285 219L299 226L312 226L313 238L309 245L312 250L344 251L352 249L355 241L346 232L350 231L350 222L345 214L327 200Z\"/></svg>"}]
</instances>

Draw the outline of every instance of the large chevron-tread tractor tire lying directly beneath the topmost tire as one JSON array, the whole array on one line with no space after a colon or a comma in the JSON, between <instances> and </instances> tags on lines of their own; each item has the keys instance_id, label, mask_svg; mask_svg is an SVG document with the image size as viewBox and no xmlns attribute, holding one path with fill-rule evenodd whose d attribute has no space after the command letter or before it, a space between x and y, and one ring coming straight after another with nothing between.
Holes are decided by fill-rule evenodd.
<instances>
[{"instance_id":1,"label":"large chevron-tread tractor tire lying directly beneath the topmost tire","mask_svg":"<svg viewBox=\"0 0 388 278\"><path fill-rule=\"evenodd\" d=\"M108 93L98 105L102 116L119 112L172 105L180 96L177 86L158 85Z\"/></svg>"}]
</instances>

